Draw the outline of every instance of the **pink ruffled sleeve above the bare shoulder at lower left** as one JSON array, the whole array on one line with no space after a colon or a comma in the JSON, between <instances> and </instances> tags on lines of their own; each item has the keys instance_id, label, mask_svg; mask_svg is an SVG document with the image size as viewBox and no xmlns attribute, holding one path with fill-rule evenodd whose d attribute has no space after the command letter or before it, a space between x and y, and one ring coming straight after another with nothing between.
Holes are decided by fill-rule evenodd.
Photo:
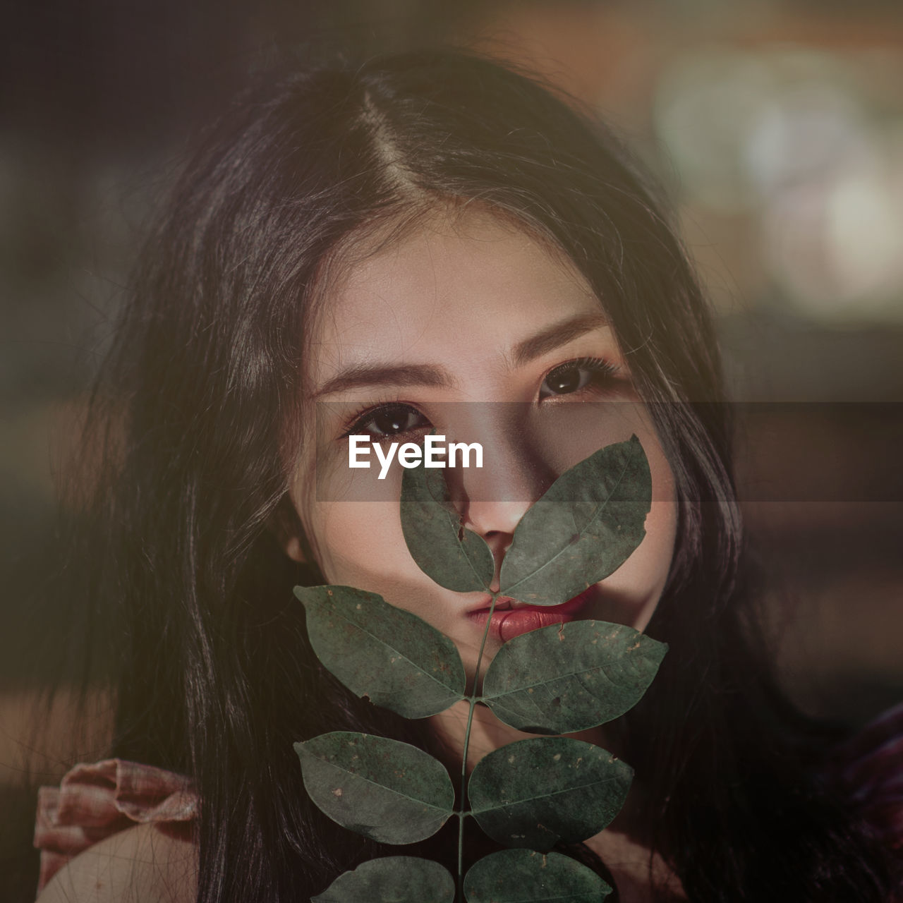
<instances>
[{"instance_id":1,"label":"pink ruffled sleeve above the bare shoulder at lower left","mask_svg":"<svg viewBox=\"0 0 903 903\"><path fill-rule=\"evenodd\" d=\"M200 799L191 782L172 771L123 759L75 766L60 787L38 791L38 893L73 856L117 831L154 822L190 833L199 812Z\"/></svg>"}]
</instances>

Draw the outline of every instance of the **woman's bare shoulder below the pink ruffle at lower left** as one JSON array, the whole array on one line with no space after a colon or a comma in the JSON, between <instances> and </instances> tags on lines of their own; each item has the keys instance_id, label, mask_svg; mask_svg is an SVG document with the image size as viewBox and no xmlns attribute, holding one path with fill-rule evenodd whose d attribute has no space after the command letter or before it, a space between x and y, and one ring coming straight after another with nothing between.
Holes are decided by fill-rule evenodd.
<instances>
[{"instance_id":1,"label":"woman's bare shoulder below the pink ruffle at lower left","mask_svg":"<svg viewBox=\"0 0 903 903\"><path fill-rule=\"evenodd\" d=\"M37 903L193 903L196 894L194 844L136 824L76 856Z\"/></svg>"}]
</instances>

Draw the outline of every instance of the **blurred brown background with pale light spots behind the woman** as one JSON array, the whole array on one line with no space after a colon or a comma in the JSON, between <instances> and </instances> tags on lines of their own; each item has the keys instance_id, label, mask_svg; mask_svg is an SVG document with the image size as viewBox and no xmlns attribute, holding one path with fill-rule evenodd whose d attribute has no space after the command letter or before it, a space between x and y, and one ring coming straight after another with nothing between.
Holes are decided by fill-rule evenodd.
<instances>
[{"instance_id":1,"label":"blurred brown background with pale light spots behind the woman","mask_svg":"<svg viewBox=\"0 0 903 903\"><path fill-rule=\"evenodd\" d=\"M903 7L896 0L44 0L0 33L0 898L30 901L31 780L97 759L33 734L23 610L53 474L179 155L284 54L455 44L545 73L656 173L715 306L740 492L780 666L851 725L903 699ZM69 425L68 425L69 424ZM31 631L31 632L29 632ZM102 709L102 703L100 704ZM70 728L72 730L70 730ZM78 738L76 740L75 738Z\"/></svg>"}]
</instances>

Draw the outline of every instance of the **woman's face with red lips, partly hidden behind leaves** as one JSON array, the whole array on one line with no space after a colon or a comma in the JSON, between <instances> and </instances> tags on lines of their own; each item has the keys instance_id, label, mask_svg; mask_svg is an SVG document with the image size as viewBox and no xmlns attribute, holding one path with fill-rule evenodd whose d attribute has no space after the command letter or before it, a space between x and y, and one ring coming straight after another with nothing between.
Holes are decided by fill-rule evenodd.
<instances>
[{"instance_id":1,"label":"woman's face with red lips, partly hidden behind leaves","mask_svg":"<svg viewBox=\"0 0 903 903\"><path fill-rule=\"evenodd\" d=\"M447 442L479 442L481 469L471 461L442 472L464 526L492 550L498 580L517 521L554 479L636 433L653 479L643 542L575 602L515 617L500 599L486 655L555 621L646 626L675 544L674 481L601 305L568 261L485 210L437 212L346 266L321 311L289 493L330 583L419 615L452 638L472 674L488 595L443 589L420 570L399 517L402 466L395 460L379 479L371 449L369 469L350 468L349 435L386 449L433 428ZM285 547L301 557L296 537Z\"/></svg>"}]
</instances>

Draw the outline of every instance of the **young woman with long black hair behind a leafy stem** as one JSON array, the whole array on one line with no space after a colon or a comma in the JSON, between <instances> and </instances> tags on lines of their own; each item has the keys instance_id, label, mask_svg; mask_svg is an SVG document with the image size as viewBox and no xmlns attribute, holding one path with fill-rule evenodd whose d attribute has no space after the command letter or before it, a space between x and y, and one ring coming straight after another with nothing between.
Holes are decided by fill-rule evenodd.
<instances>
[{"instance_id":1,"label":"young woman with long black hair behind a leafy stem","mask_svg":"<svg viewBox=\"0 0 903 903\"><path fill-rule=\"evenodd\" d=\"M672 228L562 98L429 53L248 93L146 249L94 396L70 556L116 759L43 792L42 903L306 900L398 852L321 815L293 741L367 731L453 763L460 713L404 721L350 694L292 587L380 592L472 673L485 596L417 568L397 465L383 482L347 466L351 434L433 427L484 446L484 468L450 481L497 568L563 470L631 433L651 461L647 537L558 615L670 647L641 703L593 735L636 769L628 804L569 852L621 901L892 898L894 815L844 781L874 762L870 740L844 758L770 674L712 325ZM493 619L490 656L536 626L515 614ZM518 736L478 711L475 758ZM491 849L478 834L471 857ZM453 855L443 832L403 852Z\"/></svg>"}]
</instances>

